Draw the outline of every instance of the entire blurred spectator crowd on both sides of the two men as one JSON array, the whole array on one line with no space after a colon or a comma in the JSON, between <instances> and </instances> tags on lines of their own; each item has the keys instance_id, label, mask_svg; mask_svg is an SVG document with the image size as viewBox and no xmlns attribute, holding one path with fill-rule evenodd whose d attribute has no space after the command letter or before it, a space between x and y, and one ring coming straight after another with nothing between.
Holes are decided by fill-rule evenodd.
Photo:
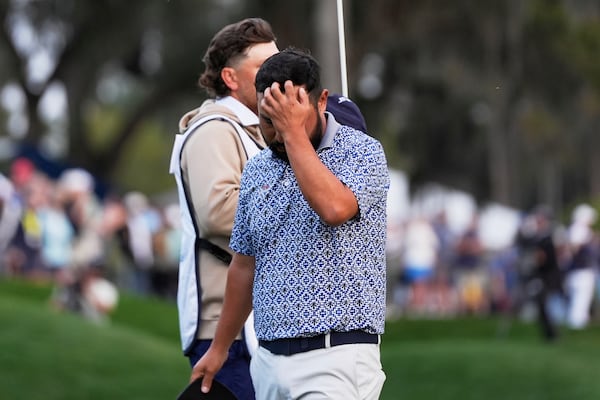
<instances>
[{"instance_id":1,"label":"entire blurred spectator crowd on both sides of the two men","mask_svg":"<svg viewBox=\"0 0 600 400\"><path fill-rule=\"evenodd\" d=\"M0 174L0 274L51 282L54 305L93 318L122 291L174 300L178 207L140 192L100 198L83 169L51 179L17 159ZM477 214L460 232L444 212L406 218L389 235L390 317L514 315L537 319L548 339L559 325L585 328L600 299L596 220L587 204L567 224L539 206L508 245L490 249Z\"/></svg>"}]
</instances>

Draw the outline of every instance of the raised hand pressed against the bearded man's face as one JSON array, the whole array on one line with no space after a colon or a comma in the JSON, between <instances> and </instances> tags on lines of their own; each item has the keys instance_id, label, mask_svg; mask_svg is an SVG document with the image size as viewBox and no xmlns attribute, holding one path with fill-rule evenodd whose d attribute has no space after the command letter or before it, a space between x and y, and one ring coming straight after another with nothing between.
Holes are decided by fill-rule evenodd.
<instances>
[{"instance_id":1,"label":"raised hand pressed against the bearded man's face","mask_svg":"<svg viewBox=\"0 0 600 400\"><path fill-rule=\"evenodd\" d=\"M308 137L308 118L314 112L314 106L304 87L294 86L288 80L282 90L279 83L274 82L265 89L261 108L284 142L294 139L294 135Z\"/></svg>"}]
</instances>

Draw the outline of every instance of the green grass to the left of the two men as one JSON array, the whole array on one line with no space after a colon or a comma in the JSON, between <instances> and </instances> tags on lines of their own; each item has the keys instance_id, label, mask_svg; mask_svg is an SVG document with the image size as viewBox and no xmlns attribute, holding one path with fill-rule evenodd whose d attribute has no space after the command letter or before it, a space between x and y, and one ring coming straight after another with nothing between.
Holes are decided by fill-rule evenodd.
<instances>
[{"instance_id":1,"label":"green grass to the left of the two men","mask_svg":"<svg viewBox=\"0 0 600 400\"><path fill-rule=\"evenodd\" d=\"M52 310L49 296L47 286L0 284L0 398L162 400L187 383L174 305L123 296L97 324Z\"/></svg>"}]
</instances>

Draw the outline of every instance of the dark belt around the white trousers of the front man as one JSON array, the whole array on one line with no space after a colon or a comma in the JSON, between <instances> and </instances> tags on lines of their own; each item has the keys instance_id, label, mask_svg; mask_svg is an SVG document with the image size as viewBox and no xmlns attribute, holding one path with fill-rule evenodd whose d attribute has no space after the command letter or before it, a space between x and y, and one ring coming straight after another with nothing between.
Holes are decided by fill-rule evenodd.
<instances>
[{"instance_id":1,"label":"dark belt around the white trousers of the front man","mask_svg":"<svg viewBox=\"0 0 600 400\"><path fill-rule=\"evenodd\" d=\"M329 345L327 345L327 338ZM342 344L355 343L379 343L379 335L367 333L365 331L350 332L331 332L310 337L300 337L291 339L259 340L261 347L269 350L273 354L290 356L296 353L324 349L325 347L340 346Z\"/></svg>"}]
</instances>

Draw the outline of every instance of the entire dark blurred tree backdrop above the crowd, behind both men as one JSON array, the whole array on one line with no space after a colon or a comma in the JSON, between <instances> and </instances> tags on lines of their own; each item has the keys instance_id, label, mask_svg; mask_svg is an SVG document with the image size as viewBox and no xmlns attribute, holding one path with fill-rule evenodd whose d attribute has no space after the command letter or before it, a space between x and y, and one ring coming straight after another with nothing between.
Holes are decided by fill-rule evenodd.
<instances>
[{"instance_id":1,"label":"entire dark blurred tree backdrop above the crowd, behind both men","mask_svg":"<svg viewBox=\"0 0 600 400\"><path fill-rule=\"evenodd\" d=\"M350 97L413 190L438 182L519 208L598 196L597 1L344 5ZM269 20L280 48L310 49L341 90L334 0L1 0L0 167L41 151L109 190L171 191L204 50L247 16Z\"/></svg>"}]
</instances>

